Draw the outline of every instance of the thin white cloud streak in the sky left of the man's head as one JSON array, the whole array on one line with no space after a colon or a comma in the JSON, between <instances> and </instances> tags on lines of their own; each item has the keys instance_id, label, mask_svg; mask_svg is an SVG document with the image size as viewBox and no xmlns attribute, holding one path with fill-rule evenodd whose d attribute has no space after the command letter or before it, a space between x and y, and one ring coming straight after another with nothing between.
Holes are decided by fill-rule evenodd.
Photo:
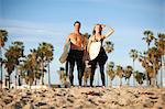
<instances>
[{"instance_id":1,"label":"thin white cloud streak in the sky left of the man's head","mask_svg":"<svg viewBox=\"0 0 165 109\"><path fill-rule=\"evenodd\" d=\"M20 20L8 20L0 19L2 21L1 26L10 30L13 34L29 34L29 35L62 35L65 31L57 30L57 26L63 26L59 24L51 24L51 23L38 23L38 22L29 22L29 21L20 21Z\"/></svg>"}]
</instances>

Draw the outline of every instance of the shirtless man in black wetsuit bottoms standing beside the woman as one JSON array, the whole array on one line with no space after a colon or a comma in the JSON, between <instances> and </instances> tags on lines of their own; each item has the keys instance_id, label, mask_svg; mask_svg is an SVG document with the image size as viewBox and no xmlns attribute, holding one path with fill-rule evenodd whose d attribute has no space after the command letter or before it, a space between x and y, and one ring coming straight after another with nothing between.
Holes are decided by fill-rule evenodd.
<instances>
[{"instance_id":1,"label":"shirtless man in black wetsuit bottoms standing beside the woman","mask_svg":"<svg viewBox=\"0 0 165 109\"><path fill-rule=\"evenodd\" d=\"M76 21L74 23L74 28L75 28L74 32L70 33L66 40L66 44L70 43L70 51L67 57L69 64L69 80L70 80L70 85L74 86L74 67L76 62L77 72L78 72L78 81L79 81L79 86L81 86L82 56L84 56L85 43L84 43L82 34L79 32L80 22Z\"/></svg>"}]
</instances>

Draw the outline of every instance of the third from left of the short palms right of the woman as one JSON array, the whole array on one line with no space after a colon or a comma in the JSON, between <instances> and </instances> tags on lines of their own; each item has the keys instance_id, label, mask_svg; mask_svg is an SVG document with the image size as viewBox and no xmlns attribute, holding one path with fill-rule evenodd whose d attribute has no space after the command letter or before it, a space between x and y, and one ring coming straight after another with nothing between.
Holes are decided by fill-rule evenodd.
<instances>
[{"instance_id":1,"label":"third from left of the short palms right of the woman","mask_svg":"<svg viewBox=\"0 0 165 109\"><path fill-rule=\"evenodd\" d=\"M132 66L128 65L125 70L124 70L124 77L125 77L125 79L128 79L128 83L127 83L128 86L130 84L130 77L131 77L132 73L133 73Z\"/></svg>"}]
</instances>

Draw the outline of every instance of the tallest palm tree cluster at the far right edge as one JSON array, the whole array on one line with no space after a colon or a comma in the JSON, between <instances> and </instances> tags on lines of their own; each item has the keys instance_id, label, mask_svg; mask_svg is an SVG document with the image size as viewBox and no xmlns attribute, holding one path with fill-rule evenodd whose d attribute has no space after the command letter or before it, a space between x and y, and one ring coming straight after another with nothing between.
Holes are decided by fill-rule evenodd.
<instances>
[{"instance_id":1,"label":"tallest palm tree cluster at the far right edge","mask_svg":"<svg viewBox=\"0 0 165 109\"><path fill-rule=\"evenodd\" d=\"M144 35L145 36L142 40L145 41L147 45L146 51L143 53L138 52L136 50L130 51L130 56L133 58L133 66L134 62L139 59L144 68L147 86L152 87L157 87L157 74L161 72L160 86L163 86L163 73L165 72L165 34L158 33L157 36L155 36L152 31L147 30L144 31Z\"/></svg>"}]
</instances>

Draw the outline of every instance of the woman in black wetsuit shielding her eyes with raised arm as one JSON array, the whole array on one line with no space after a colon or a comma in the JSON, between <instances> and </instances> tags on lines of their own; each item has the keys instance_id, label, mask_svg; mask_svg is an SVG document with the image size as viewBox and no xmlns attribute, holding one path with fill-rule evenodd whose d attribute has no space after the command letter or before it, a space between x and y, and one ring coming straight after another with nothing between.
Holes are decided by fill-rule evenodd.
<instances>
[{"instance_id":1,"label":"woman in black wetsuit shielding her eyes with raised arm","mask_svg":"<svg viewBox=\"0 0 165 109\"><path fill-rule=\"evenodd\" d=\"M102 34L102 29L108 28L109 31L106 34ZM98 56L90 61L91 64L91 75L90 75L90 86L92 87L92 81L94 81L94 76L95 76L95 70L97 64L99 64L100 67L100 74L101 74L101 80L102 80L102 86L105 86L105 64L108 59L108 56L106 54L106 51L102 46L103 40L107 39L109 35L111 35L114 32L113 29L105 25L105 24L96 24L92 31L92 36L89 37L88 42L88 48L87 51L89 52L90 45L92 42L101 42L101 47Z\"/></svg>"}]
</instances>

